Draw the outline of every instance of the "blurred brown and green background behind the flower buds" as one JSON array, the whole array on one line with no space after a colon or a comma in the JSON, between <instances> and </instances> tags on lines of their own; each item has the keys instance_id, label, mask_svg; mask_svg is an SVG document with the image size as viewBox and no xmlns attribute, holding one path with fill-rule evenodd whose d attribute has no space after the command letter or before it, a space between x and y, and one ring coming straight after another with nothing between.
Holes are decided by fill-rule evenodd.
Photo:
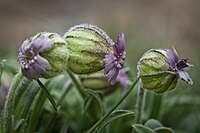
<instances>
[{"instance_id":1,"label":"blurred brown and green background behind the flower buds","mask_svg":"<svg viewBox=\"0 0 200 133\"><path fill-rule=\"evenodd\" d=\"M124 32L127 65L135 75L137 61L145 51L174 46L182 58L189 58L194 65L189 71L194 84L180 82L171 95L196 100L192 105L186 100L184 107L172 110L172 115L166 115L163 121L167 126L196 132L200 123L199 6L198 0L1 0L0 59L18 64L18 48L26 38L41 31L63 35L80 23L99 26L113 40ZM178 116L179 112L184 115ZM178 120L174 121L176 116Z\"/></svg>"}]
</instances>

